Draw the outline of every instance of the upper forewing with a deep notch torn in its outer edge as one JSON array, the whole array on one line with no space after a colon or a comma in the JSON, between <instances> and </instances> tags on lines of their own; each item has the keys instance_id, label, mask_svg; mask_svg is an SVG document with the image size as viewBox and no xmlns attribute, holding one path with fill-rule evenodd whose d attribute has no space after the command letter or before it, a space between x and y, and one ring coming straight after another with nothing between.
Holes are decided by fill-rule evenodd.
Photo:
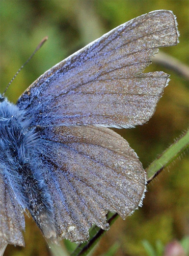
<instances>
[{"instance_id":1,"label":"upper forewing with a deep notch torn in its outer edge","mask_svg":"<svg viewBox=\"0 0 189 256\"><path fill-rule=\"evenodd\" d=\"M153 115L168 75L141 74L158 47L176 45L171 11L154 11L113 29L40 76L17 105L34 125L132 127Z\"/></svg>"}]
</instances>

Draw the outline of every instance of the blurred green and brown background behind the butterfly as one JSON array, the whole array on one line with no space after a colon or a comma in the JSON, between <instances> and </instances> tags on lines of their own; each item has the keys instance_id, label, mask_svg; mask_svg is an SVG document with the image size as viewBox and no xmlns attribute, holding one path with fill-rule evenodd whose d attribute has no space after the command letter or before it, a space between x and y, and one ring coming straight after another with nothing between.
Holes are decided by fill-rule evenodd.
<instances>
[{"instance_id":1,"label":"blurred green and brown background behind the butterfly","mask_svg":"<svg viewBox=\"0 0 189 256\"><path fill-rule=\"evenodd\" d=\"M10 101L42 73L103 33L131 18L158 9L177 16L180 44L163 48L188 64L188 1L2 1L0 2L1 93L39 41L49 39L24 67L7 91ZM136 129L116 130L137 152L144 168L188 126L188 82L164 67L171 81L151 120ZM188 235L188 157L177 159L148 186L142 208L125 221L119 218L95 247L92 255L147 255L143 240L152 246L180 241ZM25 247L9 245L5 255L50 255L41 232L26 217ZM64 241L62 242L64 245ZM109 251L116 246L113 254ZM70 244L66 246L71 247ZM107 253L107 254L105 254Z\"/></svg>"}]
</instances>

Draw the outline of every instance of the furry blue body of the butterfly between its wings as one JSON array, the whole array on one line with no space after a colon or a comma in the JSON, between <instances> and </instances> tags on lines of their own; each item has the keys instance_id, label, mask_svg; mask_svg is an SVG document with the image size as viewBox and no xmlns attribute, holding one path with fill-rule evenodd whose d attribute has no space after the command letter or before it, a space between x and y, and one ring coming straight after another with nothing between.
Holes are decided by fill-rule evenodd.
<instances>
[{"instance_id":1,"label":"furry blue body of the butterfly between its wings","mask_svg":"<svg viewBox=\"0 0 189 256\"><path fill-rule=\"evenodd\" d=\"M52 203L37 158L40 140L30 128L29 119L6 99L0 103L0 174L14 191L17 203L30 211L45 237L56 237Z\"/></svg>"}]
</instances>

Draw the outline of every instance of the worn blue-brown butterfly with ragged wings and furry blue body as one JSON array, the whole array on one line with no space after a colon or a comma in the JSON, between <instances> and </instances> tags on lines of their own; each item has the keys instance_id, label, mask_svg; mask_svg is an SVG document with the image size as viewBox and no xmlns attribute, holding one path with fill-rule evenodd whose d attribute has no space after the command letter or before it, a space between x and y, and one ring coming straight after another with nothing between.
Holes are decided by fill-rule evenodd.
<instances>
[{"instance_id":1,"label":"worn blue-brown butterfly with ragged wings and furry blue body","mask_svg":"<svg viewBox=\"0 0 189 256\"><path fill-rule=\"evenodd\" d=\"M142 206L146 175L109 127L147 122L169 81L143 73L158 47L178 43L176 17L158 10L120 25L41 75L16 105L0 95L0 238L24 246L24 211L45 238L89 239Z\"/></svg>"}]
</instances>

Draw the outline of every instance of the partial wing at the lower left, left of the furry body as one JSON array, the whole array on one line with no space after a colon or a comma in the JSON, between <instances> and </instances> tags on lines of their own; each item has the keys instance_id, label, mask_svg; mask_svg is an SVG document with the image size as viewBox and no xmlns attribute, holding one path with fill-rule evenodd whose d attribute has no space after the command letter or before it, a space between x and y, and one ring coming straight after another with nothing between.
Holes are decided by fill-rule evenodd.
<instances>
[{"instance_id":1,"label":"partial wing at the lower left, left of the furry body","mask_svg":"<svg viewBox=\"0 0 189 256\"><path fill-rule=\"evenodd\" d=\"M6 243L24 246L22 230L25 229L25 222L23 212L3 175L0 175L0 216L1 246Z\"/></svg>"}]
</instances>

